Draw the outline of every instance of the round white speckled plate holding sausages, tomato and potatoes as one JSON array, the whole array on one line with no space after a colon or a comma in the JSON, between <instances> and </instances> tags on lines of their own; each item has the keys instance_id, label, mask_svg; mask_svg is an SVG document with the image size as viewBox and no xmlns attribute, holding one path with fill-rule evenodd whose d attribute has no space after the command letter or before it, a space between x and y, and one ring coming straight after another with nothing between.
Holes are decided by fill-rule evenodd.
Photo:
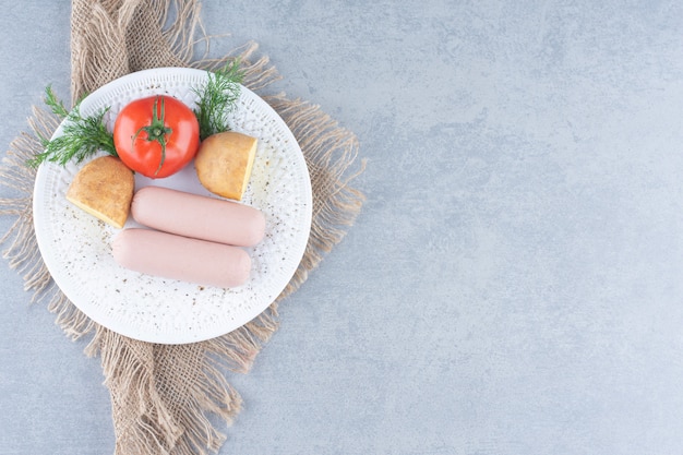
<instances>
[{"instance_id":1,"label":"round white speckled plate holding sausages, tomato and potatoes","mask_svg":"<svg viewBox=\"0 0 683 455\"><path fill-rule=\"evenodd\" d=\"M81 105L89 116L109 106L111 130L117 113L133 99L166 94L194 107L192 87L207 73L165 68L116 80ZM111 240L118 229L76 208L65 192L83 164L38 168L34 189L34 223L43 259L64 295L95 322L122 335L152 343L181 344L231 332L264 311L296 272L305 249L312 213L311 181L305 160L281 118L259 96L242 88L231 129L259 139L259 148L243 203L266 218L264 240L248 249L251 277L231 289L143 275L115 263ZM55 135L62 132L62 127ZM135 177L135 187L155 184L211 195L196 179L194 166L166 179ZM125 227L135 226L129 218Z\"/></svg>"}]
</instances>

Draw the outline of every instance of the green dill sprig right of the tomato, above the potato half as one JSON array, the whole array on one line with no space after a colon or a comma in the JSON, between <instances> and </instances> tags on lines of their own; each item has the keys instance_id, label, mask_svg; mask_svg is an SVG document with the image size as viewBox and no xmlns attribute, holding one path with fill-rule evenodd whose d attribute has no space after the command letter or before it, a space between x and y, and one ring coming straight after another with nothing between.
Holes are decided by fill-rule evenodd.
<instances>
[{"instance_id":1,"label":"green dill sprig right of the tomato, above the potato half","mask_svg":"<svg viewBox=\"0 0 683 455\"><path fill-rule=\"evenodd\" d=\"M212 134L230 130L228 113L235 109L240 97L240 88L244 72L239 60L230 60L220 70L208 72L206 84L193 88L200 97L194 115L200 123L200 139L203 141Z\"/></svg>"}]
</instances>

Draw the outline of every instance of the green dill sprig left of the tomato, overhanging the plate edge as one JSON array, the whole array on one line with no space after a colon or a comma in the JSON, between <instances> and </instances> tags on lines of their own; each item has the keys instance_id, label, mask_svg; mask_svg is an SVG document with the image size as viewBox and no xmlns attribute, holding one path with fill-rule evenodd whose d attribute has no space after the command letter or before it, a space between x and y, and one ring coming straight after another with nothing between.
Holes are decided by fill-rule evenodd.
<instances>
[{"instance_id":1,"label":"green dill sprig left of the tomato, overhanging the plate edge","mask_svg":"<svg viewBox=\"0 0 683 455\"><path fill-rule=\"evenodd\" d=\"M67 165L72 159L81 163L99 151L118 156L113 146L113 135L104 122L109 108L99 109L92 117L82 117L81 101L69 111L49 85L45 89L45 104L65 122L62 134L52 140L38 134L44 151L26 163L29 167L38 167L44 161L57 163L60 166Z\"/></svg>"}]
</instances>

